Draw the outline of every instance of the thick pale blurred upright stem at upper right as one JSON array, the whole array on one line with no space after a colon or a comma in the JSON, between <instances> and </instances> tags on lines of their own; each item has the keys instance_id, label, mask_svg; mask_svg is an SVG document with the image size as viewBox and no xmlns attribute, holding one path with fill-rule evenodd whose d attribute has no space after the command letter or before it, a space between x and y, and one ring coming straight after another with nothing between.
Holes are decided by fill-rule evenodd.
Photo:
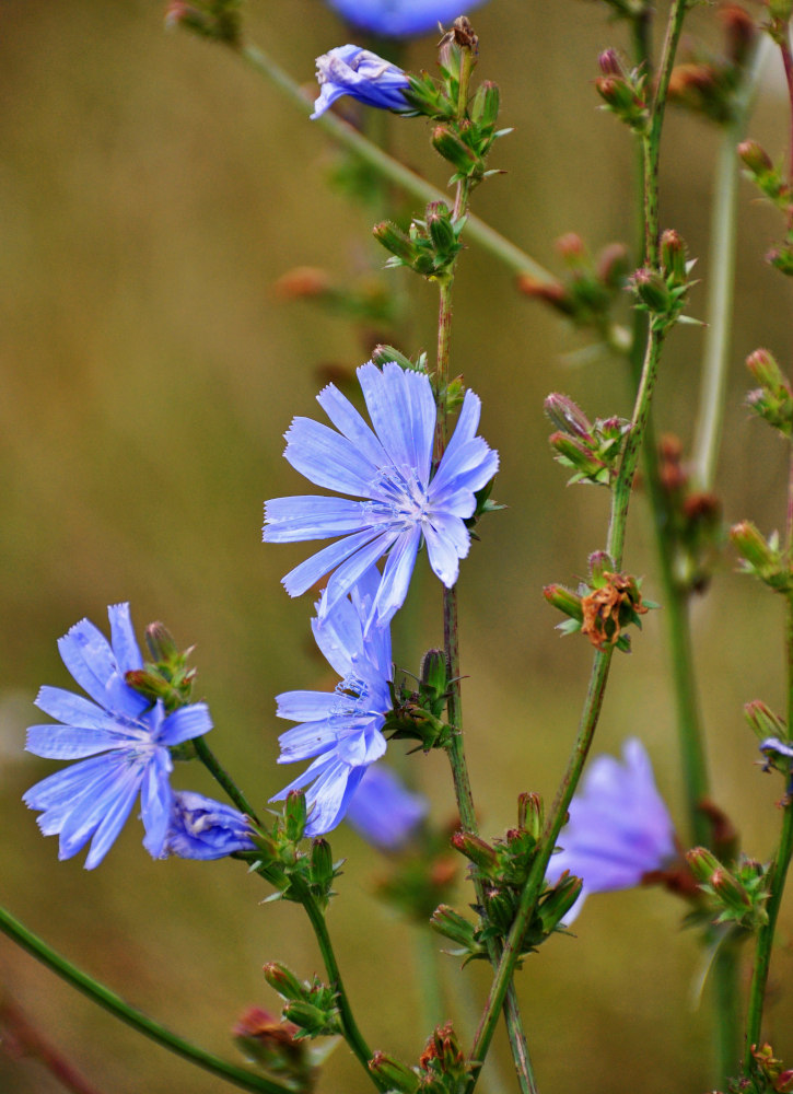
<instances>
[{"instance_id":1,"label":"thick pale blurred upright stem at upper right","mask_svg":"<svg viewBox=\"0 0 793 1094\"><path fill-rule=\"evenodd\" d=\"M738 191L738 161L735 150L746 131L757 83L771 48L771 39L763 35L735 96L733 115L724 128L713 176L708 255L708 326L702 348L700 411L692 446L693 477L699 489L705 491L713 488L715 478L730 370Z\"/></svg>"}]
</instances>

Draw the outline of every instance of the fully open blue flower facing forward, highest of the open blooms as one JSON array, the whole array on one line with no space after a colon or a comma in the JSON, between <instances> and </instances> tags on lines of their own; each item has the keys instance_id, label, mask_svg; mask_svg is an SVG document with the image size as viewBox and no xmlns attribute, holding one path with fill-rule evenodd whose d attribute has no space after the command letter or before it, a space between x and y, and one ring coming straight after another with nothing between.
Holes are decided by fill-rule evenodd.
<instances>
[{"instance_id":1,"label":"fully open blue flower facing forward, highest of the open blooms","mask_svg":"<svg viewBox=\"0 0 793 1094\"><path fill-rule=\"evenodd\" d=\"M276 498L265 507L267 543L342 536L301 562L283 579L290 596L311 589L330 570L320 618L386 552L388 558L372 616L388 622L408 593L416 554L427 543L430 566L447 589L470 546L465 520L476 510L475 491L498 469L499 456L476 437L480 401L466 392L457 426L432 475L435 400L429 377L396 363L383 371L371 361L358 370L374 430L333 384L317 396L339 432L311 418L295 418L284 456L317 486L363 498Z\"/></svg>"}]
</instances>

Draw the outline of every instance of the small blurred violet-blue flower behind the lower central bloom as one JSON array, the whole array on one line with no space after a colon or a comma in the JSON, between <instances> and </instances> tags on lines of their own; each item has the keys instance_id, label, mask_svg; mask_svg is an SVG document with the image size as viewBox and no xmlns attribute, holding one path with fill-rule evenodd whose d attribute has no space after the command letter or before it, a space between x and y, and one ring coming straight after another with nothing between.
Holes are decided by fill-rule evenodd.
<instances>
[{"instance_id":1,"label":"small blurred violet-blue flower behind the lower central bloom","mask_svg":"<svg viewBox=\"0 0 793 1094\"><path fill-rule=\"evenodd\" d=\"M381 851L397 851L427 816L430 803L403 785L387 764L366 768L347 807L347 823Z\"/></svg>"}]
</instances>

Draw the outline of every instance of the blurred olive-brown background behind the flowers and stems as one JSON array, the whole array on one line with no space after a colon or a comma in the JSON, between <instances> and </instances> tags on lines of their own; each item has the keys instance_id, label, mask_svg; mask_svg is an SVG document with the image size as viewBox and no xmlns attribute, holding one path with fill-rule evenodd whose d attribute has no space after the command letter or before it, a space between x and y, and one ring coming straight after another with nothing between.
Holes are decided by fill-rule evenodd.
<instances>
[{"instance_id":1,"label":"blurred olive-brown background behind the flowers and stems","mask_svg":"<svg viewBox=\"0 0 793 1094\"><path fill-rule=\"evenodd\" d=\"M662 13L665 5L661 5ZM714 37L713 12L691 31ZM319 0L252 0L252 37L311 82L317 54L348 40ZM20 801L54 765L22 752L42 683L69 687L56 639L106 605L129 600L139 630L163 619L195 643L200 691L214 718L212 745L264 803L291 769L277 768L273 696L330 687L308 637L310 597L290 601L279 579L304 547L265 548L261 503L301 492L281 458L295 414L313 415L328 366L352 369L366 348L346 318L273 290L299 265L340 283L382 265L369 242L382 212L328 186L338 163L323 133L230 53L163 31L155 0L5 0L0 32L0 840L2 903L32 929L128 1000L229 1056L229 1031L250 1004L277 1009L260 973L281 959L303 976L319 958L300 909L261 906L260 882L234 862L152 862L133 821L102 866L57 862ZM475 195L475 209L546 265L553 240L580 232L593 249L630 238L631 151L597 109L596 57L623 45L599 4L491 0L476 12L479 72L502 88L494 164L509 172ZM409 46L408 67L433 66L432 38ZM785 149L781 71L769 66L751 133ZM307 113L307 112L306 112ZM393 119L399 154L443 185L421 121ZM670 112L665 132L662 223L707 263L718 133ZM790 289L762 261L779 230L742 184L733 370L718 489L726 520L766 529L784 515L784 452L742 407L742 362L768 345L791 357ZM401 274L409 322L383 333L408 352L432 349L435 296ZM701 315L704 292L690 311ZM381 331L377 331L378 334ZM669 339L657 393L661 430L687 441L701 331ZM497 496L509 509L487 522L460 580L467 747L486 834L513 822L518 792L551 796L584 696L590 649L561 641L540 595L574 582L604 544L605 491L565 489L550 458L541 403L575 397L591 416L627 414L619 362L572 368L579 342L513 277L471 247L460 263L453 369L481 395L481 431L501 452ZM627 566L657 595L643 499L629 529ZM425 566L423 560L421 566ZM415 667L441 635L436 583L419 582L406 613L420 635L400 635L397 661ZM404 627L401 628L405 629ZM768 857L778 779L755 766L743 703L782 705L780 605L726 560L693 619L697 668L713 763L714 796L745 848ZM683 816L661 613L648 617L630 657L619 657L596 750L639 734L673 813ZM443 758L412 757L416 784L439 821L453 795ZM211 792L195 768L180 785ZM370 1043L416 1059L428 1031L418 1017L412 929L373 896L384 863L352 833L334 835L348 857L330 910L342 969ZM467 894L460 896L460 901ZM713 1085L710 1012L697 1009L703 963L683 907L655 891L590 900L576 938L559 936L520 978L540 1086L553 1094L703 1091ZM768 1032L793 1056L790 901L772 968ZM436 946L436 948L440 946ZM408 958L405 958L405 952ZM460 974L443 958L450 1013L478 1006L483 969ZM748 978L748 966L746 979ZM142 1040L74 996L0 939L0 985L98 1090L209 1094L223 1084ZM705 996L707 996L705 988ZM453 1003L453 1005L452 1005ZM476 1010L475 1010L476 1012ZM509 1074L503 1041L497 1068ZM491 1090L499 1075L491 1072ZM35 1062L0 1051L0 1090L49 1094ZM345 1048L322 1092L368 1089ZM508 1087L509 1089L509 1087Z\"/></svg>"}]
</instances>

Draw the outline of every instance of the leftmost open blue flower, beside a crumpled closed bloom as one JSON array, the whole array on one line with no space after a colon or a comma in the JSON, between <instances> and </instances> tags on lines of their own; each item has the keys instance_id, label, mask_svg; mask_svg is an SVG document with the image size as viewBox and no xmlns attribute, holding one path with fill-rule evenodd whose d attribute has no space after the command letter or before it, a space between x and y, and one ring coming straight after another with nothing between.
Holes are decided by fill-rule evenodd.
<instances>
[{"instance_id":1,"label":"leftmost open blue flower, beside a crumpled closed bloom","mask_svg":"<svg viewBox=\"0 0 793 1094\"><path fill-rule=\"evenodd\" d=\"M43 687L36 706L59 721L27 731L27 750L36 756L80 760L36 783L23 800L44 811L38 825L45 836L60 835L60 859L70 859L92 840L88 870L109 850L139 791L143 846L160 858L173 805L168 748L212 729L205 703L166 715L162 702L152 706L125 683L125 673L141 668L143 661L129 605L115 604L107 612L109 643L88 619L58 641L63 664L94 701Z\"/></svg>"}]
</instances>

